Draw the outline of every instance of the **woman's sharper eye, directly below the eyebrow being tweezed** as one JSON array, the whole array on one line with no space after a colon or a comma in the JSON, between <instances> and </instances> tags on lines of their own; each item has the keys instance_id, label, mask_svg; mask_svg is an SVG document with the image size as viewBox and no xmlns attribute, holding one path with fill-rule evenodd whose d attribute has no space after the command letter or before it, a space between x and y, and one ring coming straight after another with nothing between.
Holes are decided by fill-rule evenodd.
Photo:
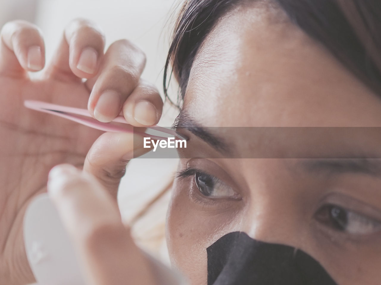
<instances>
[{"instance_id":1,"label":"woman's sharper eye, directly below the eyebrow being tweezed","mask_svg":"<svg viewBox=\"0 0 381 285\"><path fill-rule=\"evenodd\" d=\"M234 190L221 179L206 173L196 172L194 180L202 195L211 198L235 198Z\"/></svg>"}]
</instances>

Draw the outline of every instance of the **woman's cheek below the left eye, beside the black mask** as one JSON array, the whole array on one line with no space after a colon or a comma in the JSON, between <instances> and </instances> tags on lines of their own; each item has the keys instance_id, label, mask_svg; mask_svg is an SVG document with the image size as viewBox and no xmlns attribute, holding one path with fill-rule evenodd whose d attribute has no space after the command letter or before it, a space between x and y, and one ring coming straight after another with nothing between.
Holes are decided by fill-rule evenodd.
<instances>
[{"instance_id":1,"label":"woman's cheek below the left eye, beside the black mask","mask_svg":"<svg viewBox=\"0 0 381 285\"><path fill-rule=\"evenodd\" d=\"M166 242L172 265L191 281L207 284L207 247L239 230L231 213L208 211L192 202L187 190L174 184L166 221Z\"/></svg>"}]
</instances>

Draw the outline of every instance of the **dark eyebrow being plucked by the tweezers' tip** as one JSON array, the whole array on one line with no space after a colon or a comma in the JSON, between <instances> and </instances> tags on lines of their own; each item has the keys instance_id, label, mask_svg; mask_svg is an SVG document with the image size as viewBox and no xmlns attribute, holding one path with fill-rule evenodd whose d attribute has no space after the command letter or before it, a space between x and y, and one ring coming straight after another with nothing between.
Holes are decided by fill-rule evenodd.
<instances>
[{"instance_id":1,"label":"dark eyebrow being plucked by the tweezers' tip","mask_svg":"<svg viewBox=\"0 0 381 285\"><path fill-rule=\"evenodd\" d=\"M195 136L198 136L218 152L224 154L232 152L231 146L229 146L229 144L227 144L223 138L213 134L210 130L208 130L207 127L201 126L184 109L181 109L179 115L176 117L174 123L172 124L172 129L177 131L178 128L189 130L191 133L193 133Z\"/></svg>"}]
</instances>

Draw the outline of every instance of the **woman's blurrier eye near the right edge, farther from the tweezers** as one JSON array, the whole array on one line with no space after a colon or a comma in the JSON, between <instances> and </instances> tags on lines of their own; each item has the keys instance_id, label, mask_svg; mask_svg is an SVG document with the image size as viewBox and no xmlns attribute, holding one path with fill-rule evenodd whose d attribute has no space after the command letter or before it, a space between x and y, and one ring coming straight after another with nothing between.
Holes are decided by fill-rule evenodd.
<instances>
[{"instance_id":1,"label":"woman's blurrier eye near the right edge, farther from the tweezers","mask_svg":"<svg viewBox=\"0 0 381 285\"><path fill-rule=\"evenodd\" d=\"M369 235L381 230L381 222L336 205L321 207L315 217L337 231L353 235Z\"/></svg>"}]
</instances>

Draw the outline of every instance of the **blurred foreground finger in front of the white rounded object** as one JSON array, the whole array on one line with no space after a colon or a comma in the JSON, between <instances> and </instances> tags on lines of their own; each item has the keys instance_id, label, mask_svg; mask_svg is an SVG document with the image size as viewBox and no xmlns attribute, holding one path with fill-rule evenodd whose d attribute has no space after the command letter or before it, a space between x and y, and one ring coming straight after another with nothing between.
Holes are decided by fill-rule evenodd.
<instances>
[{"instance_id":1,"label":"blurred foreground finger in front of the white rounded object","mask_svg":"<svg viewBox=\"0 0 381 285\"><path fill-rule=\"evenodd\" d=\"M56 166L49 174L48 192L90 284L156 284L115 200L94 177L71 165Z\"/></svg>"}]
</instances>

